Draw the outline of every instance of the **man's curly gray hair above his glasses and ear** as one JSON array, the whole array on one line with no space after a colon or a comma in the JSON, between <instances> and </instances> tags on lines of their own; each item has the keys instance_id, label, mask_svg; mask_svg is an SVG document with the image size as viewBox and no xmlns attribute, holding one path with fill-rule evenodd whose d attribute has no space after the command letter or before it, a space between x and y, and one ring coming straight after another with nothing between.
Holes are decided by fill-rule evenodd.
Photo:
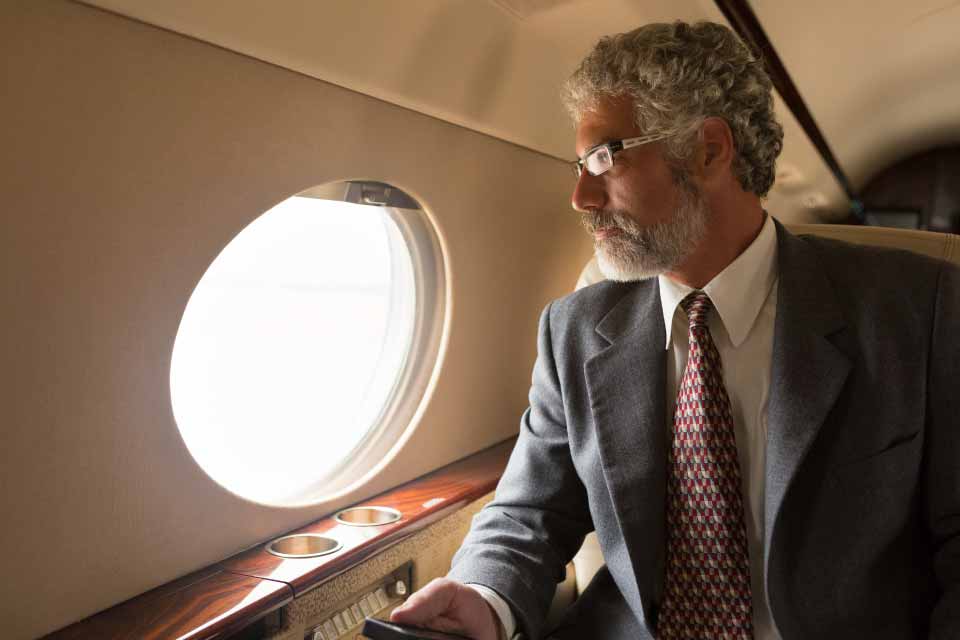
<instances>
[{"instance_id":1,"label":"man's curly gray hair above his glasses and ear","mask_svg":"<svg viewBox=\"0 0 960 640\"><path fill-rule=\"evenodd\" d=\"M664 134L666 155L685 164L704 119L733 132L733 173L745 191L773 186L783 128L763 65L727 27L711 22L648 24L601 38L563 88L574 122L605 97L630 96L644 134Z\"/></svg>"}]
</instances>

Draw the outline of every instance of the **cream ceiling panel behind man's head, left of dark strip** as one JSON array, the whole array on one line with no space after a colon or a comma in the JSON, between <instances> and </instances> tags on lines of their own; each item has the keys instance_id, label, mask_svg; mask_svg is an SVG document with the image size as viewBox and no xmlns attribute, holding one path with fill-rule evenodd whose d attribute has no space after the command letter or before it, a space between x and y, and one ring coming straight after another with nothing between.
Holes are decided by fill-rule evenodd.
<instances>
[{"instance_id":1,"label":"cream ceiling panel behind man's head, left of dark strip","mask_svg":"<svg viewBox=\"0 0 960 640\"><path fill-rule=\"evenodd\" d=\"M560 85L601 36L649 22L724 22L712 0L83 4L564 160L573 157L573 135ZM805 95L809 80L798 79ZM781 164L793 179L771 192L771 210L797 222L845 211L842 191L779 100L777 112L785 129Z\"/></svg>"}]
</instances>

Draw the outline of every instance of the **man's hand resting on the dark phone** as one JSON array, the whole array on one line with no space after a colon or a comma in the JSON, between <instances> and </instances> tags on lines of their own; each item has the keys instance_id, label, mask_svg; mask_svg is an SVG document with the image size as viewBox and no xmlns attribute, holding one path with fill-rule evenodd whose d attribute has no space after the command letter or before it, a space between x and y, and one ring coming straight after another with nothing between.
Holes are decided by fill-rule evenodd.
<instances>
[{"instance_id":1,"label":"man's hand resting on the dark phone","mask_svg":"<svg viewBox=\"0 0 960 640\"><path fill-rule=\"evenodd\" d=\"M390 620L459 633L473 640L498 640L500 620L483 597L463 584L437 578L390 614Z\"/></svg>"}]
</instances>

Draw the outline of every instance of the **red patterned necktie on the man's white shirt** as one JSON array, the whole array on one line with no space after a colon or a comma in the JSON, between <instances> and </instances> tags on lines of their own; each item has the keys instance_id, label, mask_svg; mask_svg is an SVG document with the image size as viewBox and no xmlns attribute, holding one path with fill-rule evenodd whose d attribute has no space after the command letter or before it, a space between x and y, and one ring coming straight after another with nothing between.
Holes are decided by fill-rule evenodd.
<instances>
[{"instance_id":1,"label":"red patterned necktie on the man's white shirt","mask_svg":"<svg viewBox=\"0 0 960 640\"><path fill-rule=\"evenodd\" d=\"M690 352L677 393L667 478L667 564L660 640L753 638L740 465L720 354L707 328L713 303L680 303Z\"/></svg>"}]
</instances>

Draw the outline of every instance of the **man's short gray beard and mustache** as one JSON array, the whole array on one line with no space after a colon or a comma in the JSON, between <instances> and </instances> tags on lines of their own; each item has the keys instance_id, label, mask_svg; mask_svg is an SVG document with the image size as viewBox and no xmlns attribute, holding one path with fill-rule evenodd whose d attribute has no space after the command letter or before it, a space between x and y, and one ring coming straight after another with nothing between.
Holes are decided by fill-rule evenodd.
<instances>
[{"instance_id":1,"label":"man's short gray beard and mustache","mask_svg":"<svg viewBox=\"0 0 960 640\"><path fill-rule=\"evenodd\" d=\"M641 227L626 211L584 214L591 233L616 228L620 233L595 243L597 265L609 280L632 282L673 271L693 252L706 232L707 206L699 191L681 183L680 204L673 217Z\"/></svg>"}]
</instances>

